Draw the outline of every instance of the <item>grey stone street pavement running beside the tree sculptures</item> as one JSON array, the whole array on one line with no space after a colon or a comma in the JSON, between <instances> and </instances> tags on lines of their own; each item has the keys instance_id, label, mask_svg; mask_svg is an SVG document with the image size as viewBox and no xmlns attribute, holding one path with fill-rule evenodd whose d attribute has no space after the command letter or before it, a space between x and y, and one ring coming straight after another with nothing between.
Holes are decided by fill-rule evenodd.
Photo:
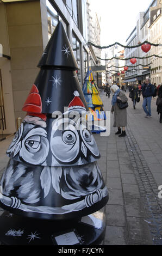
<instances>
[{"instance_id":1,"label":"grey stone street pavement running beside the tree sculptures","mask_svg":"<svg viewBox=\"0 0 162 256\"><path fill-rule=\"evenodd\" d=\"M110 111L111 96L108 99L102 92L101 97L104 110ZM104 245L161 245L162 125L155 100L152 118L144 118L142 97L136 109L129 99L127 116L126 137L115 135L112 114L110 135L94 135L101 153L97 162L109 190ZM8 162L4 153L11 139L0 142L0 175Z\"/></svg>"}]
</instances>

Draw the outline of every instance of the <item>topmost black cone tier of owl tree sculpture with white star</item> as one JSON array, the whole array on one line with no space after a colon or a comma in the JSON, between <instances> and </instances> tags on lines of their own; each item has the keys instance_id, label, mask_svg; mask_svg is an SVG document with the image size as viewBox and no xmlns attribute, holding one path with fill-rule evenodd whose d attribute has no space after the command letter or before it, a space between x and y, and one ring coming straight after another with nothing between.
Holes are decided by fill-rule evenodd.
<instances>
[{"instance_id":1,"label":"topmost black cone tier of owl tree sculpture with white star","mask_svg":"<svg viewBox=\"0 0 162 256\"><path fill-rule=\"evenodd\" d=\"M58 23L49 40L42 58L38 64L40 68L53 66L55 68L67 68L78 70L78 64L74 58L70 41L61 22ZM49 67L50 69L51 67Z\"/></svg>"}]
</instances>

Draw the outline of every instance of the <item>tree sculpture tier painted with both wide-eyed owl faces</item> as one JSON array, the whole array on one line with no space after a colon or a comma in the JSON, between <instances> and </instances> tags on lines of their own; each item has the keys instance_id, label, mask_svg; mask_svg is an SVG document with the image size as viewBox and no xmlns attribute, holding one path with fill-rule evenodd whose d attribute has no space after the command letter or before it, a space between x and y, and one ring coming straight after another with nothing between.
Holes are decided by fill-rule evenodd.
<instances>
[{"instance_id":1,"label":"tree sculpture tier painted with both wide-eyed owl faces","mask_svg":"<svg viewBox=\"0 0 162 256\"><path fill-rule=\"evenodd\" d=\"M80 115L77 120L63 115L47 122L27 116L7 154L16 161L41 166L77 166L96 161L99 150Z\"/></svg>"}]
</instances>

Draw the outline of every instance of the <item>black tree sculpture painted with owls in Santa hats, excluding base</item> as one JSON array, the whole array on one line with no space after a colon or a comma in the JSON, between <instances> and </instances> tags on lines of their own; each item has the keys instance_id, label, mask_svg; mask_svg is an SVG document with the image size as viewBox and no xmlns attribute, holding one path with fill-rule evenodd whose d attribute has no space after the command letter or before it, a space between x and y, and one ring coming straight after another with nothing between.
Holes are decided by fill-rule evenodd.
<instances>
[{"instance_id":1,"label":"black tree sculpture painted with owls in Santa hats, excluding base","mask_svg":"<svg viewBox=\"0 0 162 256\"><path fill-rule=\"evenodd\" d=\"M108 190L96 162L97 144L82 118L88 107L61 22L38 66L22 108L27 115L7 150L0 206L26 219L78 223L103 208Z\"/></svg>"}]
</instances>

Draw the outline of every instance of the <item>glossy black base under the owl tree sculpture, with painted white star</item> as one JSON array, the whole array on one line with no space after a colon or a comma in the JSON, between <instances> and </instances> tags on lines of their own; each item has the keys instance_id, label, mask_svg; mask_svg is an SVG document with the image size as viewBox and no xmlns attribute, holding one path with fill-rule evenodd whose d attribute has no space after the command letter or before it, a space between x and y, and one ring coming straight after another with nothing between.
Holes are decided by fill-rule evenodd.
<instances>
[{"instance_id":1,"label":"glossy black base under the owl tree sculpture, with painted white star","mask_svg":"<svg viewBox=\"0 0 162 256\"><path fill-rule=\"evenodd\" d=\"M4 245L100 245L105 234L105 215L102 209L79 220L47 221L4 211L0 226Z\"/></svg>"}]
</instances>

